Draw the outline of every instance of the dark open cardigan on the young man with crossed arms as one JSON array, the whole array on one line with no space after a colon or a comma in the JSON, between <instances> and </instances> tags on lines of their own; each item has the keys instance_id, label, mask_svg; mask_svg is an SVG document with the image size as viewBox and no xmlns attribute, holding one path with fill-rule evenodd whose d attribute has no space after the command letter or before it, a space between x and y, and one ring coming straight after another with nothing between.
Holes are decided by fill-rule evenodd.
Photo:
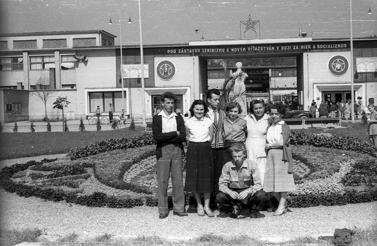
<instances>
[{"instance_id":1,"label":"dark open cardigan on the young man with crossed arms","mask_svg":"<svg viewBox=\"0 0 377 246\"><path fill-rule=\"evenodd\" d=\"M152 119L152 131L153 138L157 142L156 146L156 157L162 157L162 143L179 143L181 145L182 154L184 154L182 142L186 141L186 131L185 123L182 116L175 116L177 122L177 131L179 131L179 136L177 136L176 131L162 132L162 115L155 115Z\"/></svg>"}]
</instances>

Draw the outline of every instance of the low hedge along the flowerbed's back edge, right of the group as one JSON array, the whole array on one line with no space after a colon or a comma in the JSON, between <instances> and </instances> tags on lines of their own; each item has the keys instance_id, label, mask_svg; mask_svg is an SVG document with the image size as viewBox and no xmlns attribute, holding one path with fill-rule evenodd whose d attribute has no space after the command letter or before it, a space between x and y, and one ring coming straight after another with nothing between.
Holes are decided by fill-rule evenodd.
<instances>
[{"instance_id":1,"label":"low hedge along the flowerbed's back edge, right of the group","mask_svg":"<svg viewBox=\"0 0 377 246\"><path fill-rule=\"evenodd\" d=\"M292 131L291 144L313 145L315 147L335 148L340 150L352 150L377 157L376 149L373 147L373 145L368 144L359 138L353 137L324 136L305 133L303 131Z\"/></svg>"}]
</instances>

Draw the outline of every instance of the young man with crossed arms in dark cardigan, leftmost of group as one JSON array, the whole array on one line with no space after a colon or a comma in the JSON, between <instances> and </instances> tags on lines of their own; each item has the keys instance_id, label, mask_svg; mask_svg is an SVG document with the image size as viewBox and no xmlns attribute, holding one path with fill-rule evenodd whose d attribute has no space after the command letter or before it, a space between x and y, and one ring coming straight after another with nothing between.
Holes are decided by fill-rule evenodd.
<instances>
[{"instance_id":1,"label":"young man with crossed arms in dark cardigan, leftmost of group","mask_svg":"<svg viewBox=\"0 0 377 246\"><path fill-rule=\"evenodd\" d=\"M167 186L172 171L173 214L187 216L182 178L182 142L186 141L185 125L181 115L174 112L175 95L165 92L161 96L161 112L153 116L153 138L157 141L157 184L159 218L168 215Z\"/></svg>"}]
</instances>

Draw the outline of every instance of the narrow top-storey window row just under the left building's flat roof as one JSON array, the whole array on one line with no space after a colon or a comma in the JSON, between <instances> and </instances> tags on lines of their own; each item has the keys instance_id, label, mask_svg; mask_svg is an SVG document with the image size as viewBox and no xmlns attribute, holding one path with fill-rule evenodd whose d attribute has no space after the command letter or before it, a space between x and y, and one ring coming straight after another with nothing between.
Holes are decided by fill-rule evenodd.
<instances>
[{"instance_id":1,"label":"narrow top-storey window row just under the left building's flat roof","mask_svg":"<svg viewBox=\"0 0 377 246\"><path fill-rule=\"evenodd\" d=\"M105 40L105 41L104 41ZM104 46L112 46L113 42L103 38ZM73 38L72 46L96 46L96 38ZM67 47L67 39L43 39L42 47ZM13 40L13 49L37 48L37 40ZM0 49L8 49L8 41L0 41Z\"/></svg>"}]
</instances>

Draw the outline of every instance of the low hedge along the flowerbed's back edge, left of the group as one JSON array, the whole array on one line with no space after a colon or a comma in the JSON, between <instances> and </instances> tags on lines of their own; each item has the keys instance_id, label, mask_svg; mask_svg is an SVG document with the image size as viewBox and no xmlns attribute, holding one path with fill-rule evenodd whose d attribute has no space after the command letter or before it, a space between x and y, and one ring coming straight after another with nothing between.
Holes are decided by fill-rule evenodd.
<instances>
[{"instance_id":1,"label":"low hedge along the flowerbed's back edge, left of the group","mask_svg":"<svg viewBox=\"0 0 377 246\"><path fill-rule=\"evenodd\" d=\"M67 154L71 160L75 160L81 157L91 156L98 153L103 153L110 150L135 148L145 145L156 144L153 139L152 133L143 134L134 138L112 138L103 141L97 141L83 147L73 148Z\"/></svg>"}]
</instances>

